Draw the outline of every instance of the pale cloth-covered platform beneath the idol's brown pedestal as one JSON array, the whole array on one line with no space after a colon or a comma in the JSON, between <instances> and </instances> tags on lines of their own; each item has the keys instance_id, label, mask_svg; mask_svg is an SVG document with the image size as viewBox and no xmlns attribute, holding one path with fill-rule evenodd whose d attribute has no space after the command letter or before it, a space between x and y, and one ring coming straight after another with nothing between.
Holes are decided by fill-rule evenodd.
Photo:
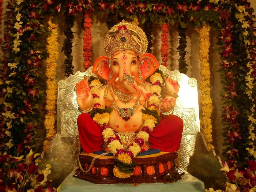
<instances>
[{"instance_id":1,"label":"pale cloth-covered platform beneath the idol's brown pedestal","mask_svg":"<svg viewBox=\"0 0 256 192\"><path fill-rule=\"evenodd\" d=\"M62 182L60 192L204 192L204 183L193 177L188 172L182 176L182 180L174 183L163 184L108 184L99 185L89 181L80 180L69 174Z\"/></svg>"}]
</instances>

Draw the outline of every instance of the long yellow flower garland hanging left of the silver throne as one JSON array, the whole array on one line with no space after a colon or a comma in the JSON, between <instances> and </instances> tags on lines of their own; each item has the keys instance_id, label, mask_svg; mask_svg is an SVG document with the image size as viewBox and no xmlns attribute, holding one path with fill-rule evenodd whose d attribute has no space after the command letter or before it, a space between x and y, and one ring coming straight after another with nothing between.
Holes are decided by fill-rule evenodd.
<instances>
[{"instance_id":1,"label":"long yellow flower garland hanging left of the silver throne","mask_svg":"<svg viewBox=\"0 0 256 192\"><path fill-rule=\"evenodd\" d=\"M48 21L48 30L52 31L52 34L47 38L46 49L49 53L49 57L46 59L46 106L47 114L45 115L45 129L46 140L44 141L44 150L48 151L50 147L50 141L53 135L56 133L54 128L55 114L56 114L56 99L57 99L57 83L54 81L57 68L57 59L59 56L59 43L58 43L58 25L52 23L52 17Z\"/></svg>"}]
</instances>

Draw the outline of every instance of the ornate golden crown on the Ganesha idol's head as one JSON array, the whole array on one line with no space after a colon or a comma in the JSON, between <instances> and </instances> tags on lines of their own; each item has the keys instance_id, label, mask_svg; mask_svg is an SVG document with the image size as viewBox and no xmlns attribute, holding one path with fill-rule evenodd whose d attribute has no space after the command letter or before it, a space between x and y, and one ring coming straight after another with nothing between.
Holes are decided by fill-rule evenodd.
<instances>
[{"instance_id":1,"label":"ornate golden crown on the Ganesha idol's head","mask_svg":"<svg viewBox=\"0 0 256 192\"><path fill-rule=\"evenodd\" d=\"M123 20L108 31L104 49L110 59L117 51L132 50L140 56L147 51L147 36L140 27Z\"/></svg>"}]
</instances>

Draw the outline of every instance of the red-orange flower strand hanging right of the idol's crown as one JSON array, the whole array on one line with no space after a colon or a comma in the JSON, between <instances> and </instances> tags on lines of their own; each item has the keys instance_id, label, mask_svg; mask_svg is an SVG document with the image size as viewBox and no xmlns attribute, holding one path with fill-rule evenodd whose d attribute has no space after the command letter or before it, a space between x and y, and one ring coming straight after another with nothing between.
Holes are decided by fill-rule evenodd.
<instances>
[{"instance_id":1,"label":"red-orange flower strand hanging right of the idol's crown","mask_svg":"<svg viewBox=\"0 0 256 192\"><path fill-rule=\"evenodd\" d=\"M168 64L166 63L169 59L169 29L168 29L168 24L167 23L163 23L162 27L161 27L161 56L162 56L162 63L161 65L167 67Z\"/></svg>"}]
</instances>

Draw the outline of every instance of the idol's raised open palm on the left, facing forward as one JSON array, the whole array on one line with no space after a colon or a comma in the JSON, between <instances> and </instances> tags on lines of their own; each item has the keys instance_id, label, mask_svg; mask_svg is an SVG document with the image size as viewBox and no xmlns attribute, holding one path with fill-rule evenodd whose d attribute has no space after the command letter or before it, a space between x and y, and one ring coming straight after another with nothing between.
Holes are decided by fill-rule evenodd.
<instances>
[{"instance_id":1,"label":"idol's raised open palm on the left, facing forward","mask_svg":"<svg viewBox=\"0 0 256 192\"><path fill-rule=\"evenodd\" d=\"M93 105L93 94L85 79L76 84L76 101L81 110L87 110Z\"/></svg>"}]
</instances>

